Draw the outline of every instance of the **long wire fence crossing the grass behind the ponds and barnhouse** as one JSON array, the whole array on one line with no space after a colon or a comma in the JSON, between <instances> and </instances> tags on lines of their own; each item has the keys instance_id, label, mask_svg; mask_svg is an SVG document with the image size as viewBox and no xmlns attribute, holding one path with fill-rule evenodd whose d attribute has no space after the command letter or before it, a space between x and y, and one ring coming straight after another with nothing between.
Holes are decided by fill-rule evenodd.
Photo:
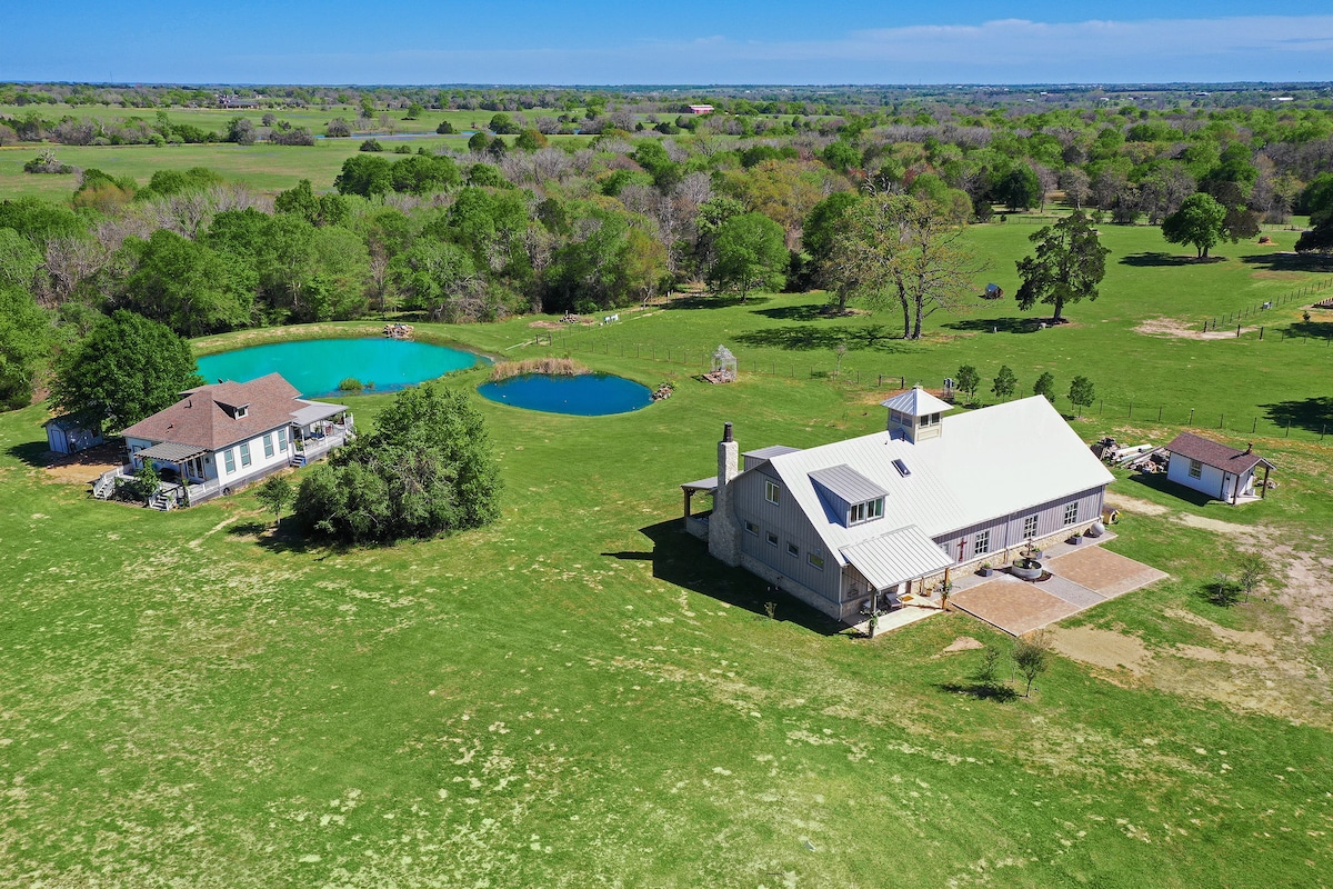
<instances>
[{"instance_id":1,"label":"long wire fence crossing the grass behind the ponds and barnhouse","mask_svg":"<svg viewBox=\"0 0 1333 889\"><path fill-rule=\"evenodd\" d=\"M680 347L661 345L655 343L624 343L612 341L607 337L597 337L592 331L583 332L543 332L539 333L531 345L563 349L571 355L583 352L585 355L607 355L623 359L637 359L640 361L655 361L682 371L696 371L698 375L712 371L713 352L717 347ZM1296 337L1289 337L1296 339ZM1316 341L1324 337L1314 337ZM1326 344L1325 344L1326 345ZM792 359L773 359L745 353L736 353L736 369L738 373L758 375L769 377L813 379L826 380L830 384L868 391L885 391L885 393L898 392L908 387L908 380L916 383L913 375L888 373L881 371L865 371L860 368L842 368L841 363L833 367L818 365L810 361L797 361ZM970 404L964 393L957 393L958 404ZM981 404L981 400L977 401ZM1297 439L1304 441L1322 443L1325 436L1333 437L1333 397L1310 399L1297 403L1280 403L1269 407L1264 413L1226 412L1220 408L1196 408L1172 405L1164 403L1114 403L1097 399L1088 405L1076 405L1065 396L1054 400L1057 408L1065 409L1069 416L1084 420L1105 420L1108 423L1154 423L1168 427L1181 427L1190 429L1213 429L1224 435L1256 436L1265 439Z\"/></svg>"}]
</instances>

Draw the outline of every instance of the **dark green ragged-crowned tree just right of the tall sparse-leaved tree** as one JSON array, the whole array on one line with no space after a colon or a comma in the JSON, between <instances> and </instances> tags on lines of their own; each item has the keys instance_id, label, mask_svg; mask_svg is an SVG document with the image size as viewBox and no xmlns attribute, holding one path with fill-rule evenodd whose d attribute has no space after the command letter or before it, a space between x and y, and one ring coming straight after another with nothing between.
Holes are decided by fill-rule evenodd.
<instances>
[{"instance_id":1,"label":"dark green ragged-crowned tree just right of the tall sparse-leaved tree","mask_svg":"<svg viewBox=\"0 0 1333 889\"><path fill-rule=\"evenodd\" d=\"M1037 303L1053 305L1052 319L1058 324L1066 304L1097 299L1110 251L1097 240L1097 229L1082 212L1074 211L1028 240L1037 249L1017 263L1022 279L1017 293L1020 308L1030 309Z\"/></svg>"}]
</instances>

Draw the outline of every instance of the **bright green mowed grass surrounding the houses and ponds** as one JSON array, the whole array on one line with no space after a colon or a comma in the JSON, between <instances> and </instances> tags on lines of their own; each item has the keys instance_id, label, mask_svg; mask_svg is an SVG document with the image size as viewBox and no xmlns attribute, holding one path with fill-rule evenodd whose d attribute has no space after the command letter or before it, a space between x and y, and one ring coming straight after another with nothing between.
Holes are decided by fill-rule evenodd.
<instances>
[{"instance_id":1,"label":"bright green mowed grass surrounding the houses and ponds","mask_svg":"<svg viewBox=\"0 0 1333 889\"><path fill-rule=\"evenodd\" d=\"M1025 233L970 235L1010 293ZM1329 885L1333 449L1314 433L1256 437L1281 486L1244 509L1121 477L1108 546L1172 577L1070 621L1070 654L1009 702L960 690L980 652L945 653L960 636L1006 650L986 626L946 614L870 642L785 597L769 620L764 582L680 530L677 485L713 473L722 421L742 449L882 428L882 392L854 381L881 363L937 385L1008 361L1024 391L1049 365L1061 387L1080 369L1250 409L1326 395L1310 344L1134 332L1298 283L1242 263L1257 248L1148 269L1118 261L1164 249L1146 229L1108 244L1104 299L1034 333L948 327L998 327L1012 304L865 348L853 333L892 320L820 319L814 296L624 312L573 353L676 396L600 419L479 399L501 520L392 548L309 545L251 493L93 502L44 468L41 407L0 415L0 885ZM419 329L531 357L551 351L524 345L547 332L531 321ZM746 373L832 371L842 339L842 380ZM718 341L737 385L643 353ZM371 427L388 399L348 403ZM1274 582L1210 604L1256 540Z\"/></svg>"}]
</instances>

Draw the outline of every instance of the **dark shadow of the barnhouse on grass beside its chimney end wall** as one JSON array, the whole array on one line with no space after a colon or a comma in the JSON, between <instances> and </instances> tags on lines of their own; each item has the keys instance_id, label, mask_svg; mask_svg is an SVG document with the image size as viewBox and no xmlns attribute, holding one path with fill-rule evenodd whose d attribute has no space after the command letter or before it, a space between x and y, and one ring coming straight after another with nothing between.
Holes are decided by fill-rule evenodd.
<instances>
[{"instance_id":1,"label":"dark shadow of the barnhouse on grass beside its chimney end wall","mask_svg":"<svg viewBox=\"0 0 1333 889\"><path fill-rule=\"evenodd\" d=\"M603 556L652 562L653 577L760 617L768 617L765 602L777 602L777 620L790 621L821 636L837 636L846 629L784 592L769 592L764 578L744 568L728 568L717 561L708 554L708 544L681 528L680 518L660 521L639 532L653 541L652 552L625 550Z\"/></svg>"}]
</instances>

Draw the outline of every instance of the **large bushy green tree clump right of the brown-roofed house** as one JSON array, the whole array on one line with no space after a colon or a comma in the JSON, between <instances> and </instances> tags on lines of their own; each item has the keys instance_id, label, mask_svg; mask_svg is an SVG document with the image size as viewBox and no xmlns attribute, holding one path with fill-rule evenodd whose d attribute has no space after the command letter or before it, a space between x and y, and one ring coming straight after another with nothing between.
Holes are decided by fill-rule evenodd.
<instances>
[{"instance_id":1,"label":"large bushy green tree clump right of the brown-roofed house","mask_svg":"<svg viewBox=\"0 0 1333 889\"><path fill-rule=\"evenodd\" d=\"M315 533L389 542L479 528L500 514L499 469L465 393L408 389L377 425L301 481L296 514Z\"/></svg>"}]
</instances>

